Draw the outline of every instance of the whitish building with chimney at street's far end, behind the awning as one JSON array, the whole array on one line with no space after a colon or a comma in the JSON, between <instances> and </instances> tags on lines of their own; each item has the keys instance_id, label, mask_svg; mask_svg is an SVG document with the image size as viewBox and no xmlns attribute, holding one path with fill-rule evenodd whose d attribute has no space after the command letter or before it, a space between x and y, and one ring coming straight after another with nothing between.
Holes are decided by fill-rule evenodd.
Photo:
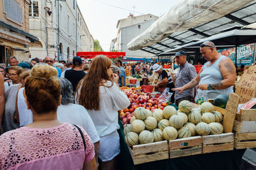
<instances>
[{"instance_id":1,"label":"whitish building with chimney at street's far end, behind the awning","mask_svg":"<svg viewBox=\"0 0 256 170\"><path fill-rule=\"evenodd\" d=\"M140 35L150 25L152 25L158 17L147 14L134 17L129 15L127 18L118 20L116 28L118 29L117 36L111 40L111 51L125 52L126 58L141 58L152 57L152 53L142 50L128 50L127 44L136 36Z\"/></svg>"}]
</instances>

